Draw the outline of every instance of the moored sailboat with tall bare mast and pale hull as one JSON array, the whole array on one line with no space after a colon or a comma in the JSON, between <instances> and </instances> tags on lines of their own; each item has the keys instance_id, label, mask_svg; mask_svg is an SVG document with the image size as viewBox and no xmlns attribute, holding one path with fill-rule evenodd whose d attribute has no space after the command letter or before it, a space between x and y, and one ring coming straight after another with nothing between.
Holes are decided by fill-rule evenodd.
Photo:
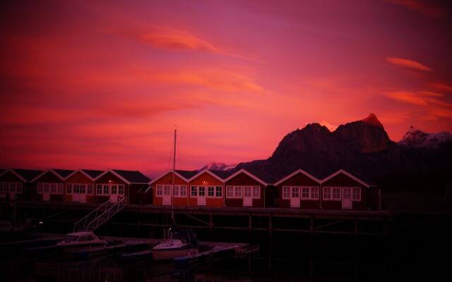
<instances>
[{"instance_id":1,"label":"moored sailboat with tall bare mast and pale hull","mask_svg":"<svg viewBox=\"0 0 452 282\"><path fill-rule=\"evenodd\" d=\"M174 130L174 155L172 166L171 181L171 227L169 228L169 238L155 245L152 248L154 260L174 259L175 257L184 257L194 255L198 252L198 242L196 234L191 230L177 228L174 220L174 176L176 172L176 138L177 130Z\"/></svg>"}]
</instances>

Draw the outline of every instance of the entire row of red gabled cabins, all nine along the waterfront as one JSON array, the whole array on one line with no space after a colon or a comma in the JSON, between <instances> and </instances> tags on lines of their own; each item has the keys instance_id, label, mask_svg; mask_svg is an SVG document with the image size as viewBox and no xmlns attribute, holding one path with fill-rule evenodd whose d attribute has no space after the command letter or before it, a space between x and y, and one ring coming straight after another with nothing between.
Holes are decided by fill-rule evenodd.
<instances>
[{"instance_id":1,"label":"entire row of red gabled cabins, all nine along the waterfront","mask_svg":"<svg viewBox=\"0 0 452 282\"><path fill-rule=\"evenodd\" d=\"M0 199L117 202L177 207L292 207L379 209L380 190L369 180L339 170L318 179L299 169L283 179L229 171L172 171L150 180L139 171L49 169L0 171Z\"/></svg>"}]
</instances>

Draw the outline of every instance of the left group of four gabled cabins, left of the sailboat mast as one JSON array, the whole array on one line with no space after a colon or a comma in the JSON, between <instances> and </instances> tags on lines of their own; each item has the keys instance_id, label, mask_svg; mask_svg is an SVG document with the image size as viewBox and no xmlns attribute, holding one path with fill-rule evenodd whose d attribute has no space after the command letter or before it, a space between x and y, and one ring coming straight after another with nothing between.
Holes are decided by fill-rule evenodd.
<instances>
[{"instance_id":1,"label":"left group of four gabled cabins, left of the sailboat mast","mask_svg":"<svg viewBox=\"0 0 452 282\"><path fill-rule=\"evenodd\" d=\"M0 199L49 202L117 202L151 204L150 178L139 171L89 169L0 171Z\"/></svg>"}]
</instances>

